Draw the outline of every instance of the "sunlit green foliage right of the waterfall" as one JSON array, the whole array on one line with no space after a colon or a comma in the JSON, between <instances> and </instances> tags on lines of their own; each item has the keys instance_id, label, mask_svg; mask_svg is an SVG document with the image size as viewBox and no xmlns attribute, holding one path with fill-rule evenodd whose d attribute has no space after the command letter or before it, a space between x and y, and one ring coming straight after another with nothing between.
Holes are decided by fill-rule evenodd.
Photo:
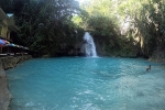
<instances>
[{"instance_id":1,"label":"sunlit green foliage right of the waterfall","mask_svg":"<svg viewBox=\"0 0 165 110\"><path fill-rule=\"evenodd\" d=\"M160 45L162 47L165 45L164 0L95 0L95 3L92 3L94 0L88 7L84 7L90 13L87 24L105 42L102 44L107 53L121 55L130 52L133 55L139 53L134 52L134 47L140 48L141 42L142 53L145 56L151 56ZM130 25L128 33L122 37L129 35L133 38L131 41L129 37L122 38L119 34L120 24L125 22L124 20L128 16L130 16L132 29ZM109 24L110 26L108 26ZM135 37L143 41L139 41L134 45L132 43L135 42Z\"/></svg>"}]
</instances>

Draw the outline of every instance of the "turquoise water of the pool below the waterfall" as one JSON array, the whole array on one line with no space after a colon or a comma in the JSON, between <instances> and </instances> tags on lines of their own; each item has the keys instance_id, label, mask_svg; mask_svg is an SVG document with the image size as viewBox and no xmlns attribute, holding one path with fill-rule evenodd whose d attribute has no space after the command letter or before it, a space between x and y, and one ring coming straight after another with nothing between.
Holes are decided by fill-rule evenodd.
<instances>
[{"instance_id":1,"label":"turquoise water of the pool below the waterfall","mask_svg":"<svg viewBox=\"0 0 165 110\"><path fill-rule=\"evenodd\" d=\"M7 75L11 110L165 109L165 68L142 58L36 58Z\"/></svg>"}]
</instances>

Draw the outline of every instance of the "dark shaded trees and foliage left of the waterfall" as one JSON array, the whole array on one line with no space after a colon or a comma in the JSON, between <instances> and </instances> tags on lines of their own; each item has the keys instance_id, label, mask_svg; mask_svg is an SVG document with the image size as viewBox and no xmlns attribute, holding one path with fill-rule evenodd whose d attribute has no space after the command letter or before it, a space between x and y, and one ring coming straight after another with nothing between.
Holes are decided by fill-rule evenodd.
<instances>
[{"instance_id":1,"label":"dark shaded trees and foliage left of the waterfall","mask_svg":"<svg viewBox=\"0 0 165 110\"><path fill-rule=\"evenodd\" d=\"M0 4L4 11L15 14L21 30L15 37L21 40L19 44L51 56L67 53L68 47L74 47L77 26L72 18L80 11L77 1L1 0Z\"/></svg>"}]
</instances>

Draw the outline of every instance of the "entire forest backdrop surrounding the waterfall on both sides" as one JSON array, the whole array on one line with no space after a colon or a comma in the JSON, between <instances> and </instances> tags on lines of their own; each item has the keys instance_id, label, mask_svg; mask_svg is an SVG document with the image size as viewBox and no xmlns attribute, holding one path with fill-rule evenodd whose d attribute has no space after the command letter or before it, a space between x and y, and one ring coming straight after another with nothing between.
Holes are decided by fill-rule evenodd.
<instances>
[{"instance_id":1,"label":"entire forest backdrop surrounding the waterfall on both sides","mask_svg":"<svg viewBox=\"0 0 165 110\"><path fill-rule=\"evenodd\" d=\"M21 30L14 42L42 55L77 51L85 31L102 55L151 56L165 47L165 0L1 0Z\"/></svg>"}]
</instances>

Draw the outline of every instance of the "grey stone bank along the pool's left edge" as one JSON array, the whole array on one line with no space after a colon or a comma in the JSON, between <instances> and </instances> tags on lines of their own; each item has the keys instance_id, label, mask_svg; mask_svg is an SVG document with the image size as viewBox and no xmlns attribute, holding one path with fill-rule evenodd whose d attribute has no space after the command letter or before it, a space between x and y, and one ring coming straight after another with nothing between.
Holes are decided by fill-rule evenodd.
<instances>
[{"instance_id":1,"label":"grey stone bank along the pool's left edge","mask_svg":"<svg viewBox=\"0 0 165 110\"><path fill-rule=\"evenodd\" d=\"M0 57L0 110L9 110L10 100L12 99L4 70L13 68L19 63L30 58L32 58L31 55Z\"/></svg>"}]
</instances>

